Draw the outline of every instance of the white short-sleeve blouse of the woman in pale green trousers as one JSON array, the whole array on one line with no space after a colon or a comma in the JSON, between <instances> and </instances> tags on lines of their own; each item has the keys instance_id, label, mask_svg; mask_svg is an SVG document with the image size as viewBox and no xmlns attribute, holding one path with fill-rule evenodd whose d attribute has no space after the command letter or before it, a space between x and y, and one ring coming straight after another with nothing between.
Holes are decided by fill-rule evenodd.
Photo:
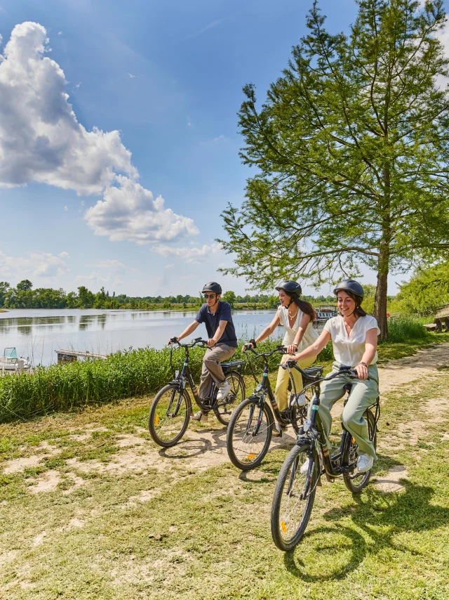
<instances>
[{"instance_id":1,"label":"white short-sleeve blouse of the woman in pale green trousers","mask_svg":"<svg viewBox=\"0 0 449 600\"><path fill-rule=\"evenodd\" d=\"M344 327L341 315L329 319L324 325L324 330L330 333L337 363L348 367L356 367L365 352L366 332L372 329L377 330L377 335L380 334L377 321L370 315L358 317L349 335L346 327ZM371 365L375 363L377 363L377 352L371 361Z\"/></svg>"}]
</instances>

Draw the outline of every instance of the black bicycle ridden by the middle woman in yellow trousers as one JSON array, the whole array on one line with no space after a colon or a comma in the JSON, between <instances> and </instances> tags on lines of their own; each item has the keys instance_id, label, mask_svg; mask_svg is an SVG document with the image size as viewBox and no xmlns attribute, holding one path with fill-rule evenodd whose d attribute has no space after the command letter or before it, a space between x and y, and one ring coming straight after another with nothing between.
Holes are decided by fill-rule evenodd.
<instances>
[{"instance_id":1,"label":"black bicycle ridden by the middle woman in yellow trousers","mask_svg":"<svg viewBox=\"0 0 449 600\"><path fill-rule=\"evenodd\" d=\"M255 359L263 358L264 370L262 381L258 381L255 375L253 365L248 360L248 365L253 374L253 378L257 384L253 395L243 400L234 410L226 436L226 448L229 459L237 469L242 471L250 471L255 469L267 454L269 445L272 441L273 426L276 422L279 424L279 433L282 435L283 429L291 424L295 433L300 429L300 425L307 416L307 398L300 398L301 394L297 393L293 375L290 373L290 381L292 382L292 391L288 410L286 412L279 411L279 407L274 398L272 386L269 382L268 358L275 353L286 354L284 346L276 346L269 352L259 353L250 346L244 346L243 351L251 351L255 354ZM254 361L253 361L254 362ZM302 371L306 381L313 381L318 374L323 374L323 367L309 367ZM269 403L267 403L267 396Z\"/></svg>"}]
</instances>

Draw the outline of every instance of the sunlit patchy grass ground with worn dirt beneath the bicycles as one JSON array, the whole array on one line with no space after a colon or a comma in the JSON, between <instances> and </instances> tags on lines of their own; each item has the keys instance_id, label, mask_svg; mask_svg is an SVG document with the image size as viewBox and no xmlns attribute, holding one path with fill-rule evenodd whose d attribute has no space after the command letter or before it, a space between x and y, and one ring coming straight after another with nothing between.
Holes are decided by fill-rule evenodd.
<instances>
[{"instance_id":1,"label":"sunlit patchy grass ground with worn dirt beneath the bicycles","mask_svg":"<svg viewBox=\"0 0 449 600\"><path fill-rule=\"evenodd\" d=\"M399 489L323 482L288 554L269 533L286 449L246 475L215 464L214 419L161 451L149 398L4 424L0 597L447 600L448 386L441 370L384 396L376 476Z\"/></svg>"}]
</instances>

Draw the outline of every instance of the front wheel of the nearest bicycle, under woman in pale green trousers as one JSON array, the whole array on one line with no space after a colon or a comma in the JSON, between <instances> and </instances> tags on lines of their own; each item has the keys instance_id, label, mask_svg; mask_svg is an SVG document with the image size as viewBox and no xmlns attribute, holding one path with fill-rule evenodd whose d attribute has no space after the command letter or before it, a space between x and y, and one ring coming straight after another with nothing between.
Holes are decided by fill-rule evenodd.
<instances>
[{"instance_id":1,"label":"front wheel of the nearest bicycle, under woman in pale green trousers","mask_svg":"<svg viewBox=\"0 0 449 600\"><path fill-rule=\"evenodd\" d=\"M300 471L300 462L304 464L304 460L301 461L300 455L304 455L309 461L311 460L311 466L309 467L309 471L307 474L302 474ZM296 464L295 464L296 463ZM308 474L310 473L310 481L308 482L309 490L307 492L307 497L302 498L302 492L304 485L307 482ZM301 487L301 495L297 495L293 492L294 490L294 481L296 475L299 474L300 478L303 481ZM316 448L314 445L311 447L307 444L295 445L283 462L281 467L281 471L279 471L279 476L276 481L276 488L274 488L273 502L272 502L272 515L271 515L271 530L273 541L280 550L283 552L287 552L288 550L293 549L301 540L304 532L307 528L307 523L309 523L311 509L314 507L314 500L316 494L316 484L319 478L319 457L316 452ZM291 493L288 494L284 492L284 488L286 487L286 483L288 485L292 485L293 489ZM298 500L302 500L304 502L304 509L302 512L301 519L299 523L293 526L293 534L290 535L286 539L283 534L287 535L287 527L289 526L290 518L293 512L293 509L283 509L282 501L283 496L286 495L288 500L286 500L286 504L290 502L291 498L297 498ZM295 504L298 504L298 500L295 501Z\"/></svg>"}]
</instances>

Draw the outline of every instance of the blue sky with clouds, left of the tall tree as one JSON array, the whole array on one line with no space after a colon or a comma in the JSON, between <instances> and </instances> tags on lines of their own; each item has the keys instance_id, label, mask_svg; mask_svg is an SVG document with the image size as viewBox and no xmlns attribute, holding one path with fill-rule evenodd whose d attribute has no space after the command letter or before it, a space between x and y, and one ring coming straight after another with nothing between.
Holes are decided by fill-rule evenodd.
<instances>
[{"instance_id":1,"label":"blue sky with clouds, left of the tall tree","mask_svg":"<svg viewBox=\"0 0 449 600\"><path fill-rule=\"evenodd\" d=\"M335 31L354 18L354 0L320 4ZM238 155L241 88L253 82L264 97L304 34L310 6L311 0L0 0L2 46L15 25L46 30L46 53L32 58L40 71L27 79L36 90L29 102L11 96L11 114L23 103L17 131L39 117L51 140L51 148L42 140L37 146L45 165L36 166L29 152L18 154L8 173L0 169L0 183L27 183L0 188L0 280L165 295L196 294L206 280L220 279L225 289L244 292L244 280L216 273L231 259L214 244L223 235L220 212L227 202L241 202L250 173ZM11 72L22 69L42 31L16 30ZM41 69L43 57L56 64ZM57 99L61 82L72 116ZM65 119L62 133L53 113ZM89 135L93 128L118 130L121 141ZM61 166L62 153L72 150L76 157ZM113 179L111 165L126 177ZM105 181L109 193L101 190ZM121 195L114 197L117 185ZM128 202L124 226L121 202ZM156 239L147 231L156 232L158 219ZM375 282L374 274L365 280Z\"/></svg>"}]
</instances>

